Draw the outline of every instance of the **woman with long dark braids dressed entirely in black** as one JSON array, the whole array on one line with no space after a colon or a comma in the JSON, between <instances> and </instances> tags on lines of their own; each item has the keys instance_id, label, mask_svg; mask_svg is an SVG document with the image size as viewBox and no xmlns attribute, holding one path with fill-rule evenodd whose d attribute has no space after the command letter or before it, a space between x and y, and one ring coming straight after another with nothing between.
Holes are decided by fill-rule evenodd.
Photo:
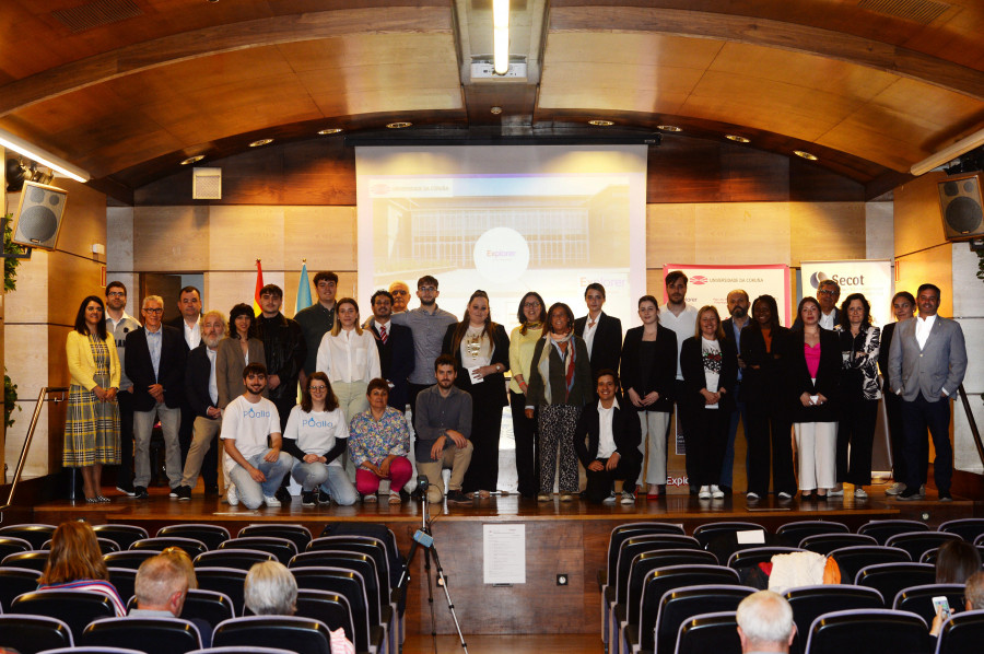
<instances>
[{"instance_id":1,"label":"woman with long dark braids dressed entirely in black","mask_svg":"<svg viewBox=\"0 0 984 654\"><path fill-rule=\"evenodd\" d=\"M741 394L745 402L745 439L748 443L748 495L757 501L769 493L770 457L772 489L780 500L796 494L793 472L792 424L783 402L786 381L786 341L789 329L780 325L778 307L772 295L752 303L752 320L741 330Z\"/></svg>"}]
</instances>

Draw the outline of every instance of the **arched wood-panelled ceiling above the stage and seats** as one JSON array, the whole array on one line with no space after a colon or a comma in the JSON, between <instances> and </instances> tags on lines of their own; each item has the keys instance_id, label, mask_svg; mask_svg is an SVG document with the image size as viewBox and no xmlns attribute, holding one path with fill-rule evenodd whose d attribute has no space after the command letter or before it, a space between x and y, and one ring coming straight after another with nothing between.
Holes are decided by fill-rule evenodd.
<instances>
[{"instance_id":1,"label":"arched wood-panelled ceiling above the stage and seats","mask_svg":"<svg viewBox=\"0 0 984 654\"><path fill-rule=\"evenodd\" d=\"M397 119L675 124L813 151L862 184L984 126L976 0L513 0L529 78L473 83L489 2L4 0L0 127L125 191L261 136Z\"/></svg>"}]
</instances>

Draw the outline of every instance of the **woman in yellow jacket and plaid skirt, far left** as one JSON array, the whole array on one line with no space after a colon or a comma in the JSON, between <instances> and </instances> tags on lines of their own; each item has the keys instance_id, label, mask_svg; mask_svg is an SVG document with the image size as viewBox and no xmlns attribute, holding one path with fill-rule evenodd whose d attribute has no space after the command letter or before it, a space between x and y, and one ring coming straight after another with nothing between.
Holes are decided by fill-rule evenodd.
<instances>
[{"instance_id":1,"label":"woman in yellow jacket and plaid skirt, far left","mask_svg":"<svg viewBox=\"0 0 984 654\"><path fill-rule=\"evenodd\" d=\"M102 494L103 465L119 465L119 357L106 330L103 301L82 301L75 326L65 343L71 386L65 420L62 464L82 470L90 504L108 502Z\"/></svg>"}]
</instances>

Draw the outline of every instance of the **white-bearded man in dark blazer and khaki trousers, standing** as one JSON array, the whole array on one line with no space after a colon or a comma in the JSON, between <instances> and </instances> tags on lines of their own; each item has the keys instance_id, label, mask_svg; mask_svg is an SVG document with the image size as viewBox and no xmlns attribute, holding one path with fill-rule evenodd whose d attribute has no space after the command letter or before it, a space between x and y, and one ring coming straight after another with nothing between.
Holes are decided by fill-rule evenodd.
<instances>
[{"instance_id":1,"label":"white-bearded man in dark blazer and khaki trousers, standing","mask_svg":"<svg viewBox=\"0 0 984 654\"><path fill-rule=\"evenodd\" d=\"M225 317L218 311L210 311L201 322L201 343L188 354L185 364L185 399L194 412L191 445L185 459L181 484L175 489L178 500L190 500L191 490L198 483L198 475L204 478L206 488L218 484L218 470L202 470L206 454L211 449L212 439L222 427L222 412L219 410L219 385L215 383L215 357L219 341L225 334ZM218 457L212 466L218 465Z\"/></svg>"}]
</instances>

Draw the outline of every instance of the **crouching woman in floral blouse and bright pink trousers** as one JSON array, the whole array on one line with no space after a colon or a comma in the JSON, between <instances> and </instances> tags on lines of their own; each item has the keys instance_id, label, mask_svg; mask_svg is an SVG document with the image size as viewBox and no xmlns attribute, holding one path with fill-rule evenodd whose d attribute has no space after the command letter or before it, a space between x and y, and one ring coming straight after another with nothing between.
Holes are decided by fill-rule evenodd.
<instances>
[{"instance_id":1,"label":"crouching woman in floral blouse and bright pink trousers","mask_svg":"<svg viewBox=\"0 0 984 654\"><path fill-rule=\"evenodd\" d=\"M379 481L389 479L389 503L400 503L400 490L413 476L407 454L410 430L402 411L388 406L389 383L376 378L366 388L370 408L349 424L349 460L355 467L355 489L376 501Z\"/></svg>"}]
</instances>

